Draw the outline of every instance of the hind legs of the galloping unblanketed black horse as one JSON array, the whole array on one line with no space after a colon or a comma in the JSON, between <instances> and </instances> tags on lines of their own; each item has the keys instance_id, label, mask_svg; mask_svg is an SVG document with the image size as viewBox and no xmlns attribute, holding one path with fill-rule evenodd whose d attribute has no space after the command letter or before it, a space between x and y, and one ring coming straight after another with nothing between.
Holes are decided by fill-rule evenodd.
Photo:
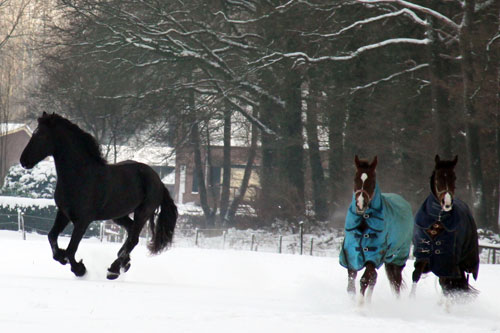
<instances>
[{"instance_id":1,"label":"hind legs of the galloping unblanketed black horse","mask_svg":"<svg viewBox=\"0 0 500 333\"><path fill-rule=\"evenodd\" d=\"M144 224L146 223L146 218L144 216L145 213L140 210L136 210L134 213L134 220L128 216L113 220L117 224L125 227L127 230L127 239L118 251L118 258L113 261L111 266L108 268L107 278L109 280L118 278L122 269L126 272L130 268L130 252L132 252L134 247L139 243L139 235L144 227Z\"/></svg>"}]
</instances>

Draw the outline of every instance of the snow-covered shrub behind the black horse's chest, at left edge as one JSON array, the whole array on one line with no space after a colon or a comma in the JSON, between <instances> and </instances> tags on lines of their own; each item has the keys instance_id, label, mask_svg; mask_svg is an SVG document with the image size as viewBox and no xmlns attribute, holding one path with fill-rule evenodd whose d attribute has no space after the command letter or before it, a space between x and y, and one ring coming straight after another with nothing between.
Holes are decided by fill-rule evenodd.
<instances>
[{"instance_id":1,"label":"snow-covered shrub behind the black horse's chest, at left edge","mask_svg":"<svg viewBox=\"0 0 500 333\"><path fill-rule=\"evenodd\" d=\"M20 165L10 168L0 194L28 198L53 198L56 187L54 162L42 161L33 169Z\"/></svg>"}]
</instances>

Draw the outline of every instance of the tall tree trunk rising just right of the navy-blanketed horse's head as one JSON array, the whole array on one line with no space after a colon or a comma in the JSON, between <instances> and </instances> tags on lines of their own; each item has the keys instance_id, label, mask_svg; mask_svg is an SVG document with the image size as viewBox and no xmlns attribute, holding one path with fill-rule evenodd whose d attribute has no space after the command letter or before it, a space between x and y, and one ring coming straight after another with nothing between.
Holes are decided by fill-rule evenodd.
<instances>
[{"instance_id":1,"label":"tall tree trunk rising just right of the navy-blanketed horse's head","mask_svg":"<svg viewBox=\"0 0 500 333\"><path fill-rule=\"evenodd\" d=\"M464 16L461 24L459 43L462 57L463 107L466 127L465 143L472 187L473 209L479 226L491 226L486 220L484 206L483 170L479 144L479 127L474 105L474 66L472 59L471 31L474 15L474 0L465 0Z\"/></svg>"}]
</instances>

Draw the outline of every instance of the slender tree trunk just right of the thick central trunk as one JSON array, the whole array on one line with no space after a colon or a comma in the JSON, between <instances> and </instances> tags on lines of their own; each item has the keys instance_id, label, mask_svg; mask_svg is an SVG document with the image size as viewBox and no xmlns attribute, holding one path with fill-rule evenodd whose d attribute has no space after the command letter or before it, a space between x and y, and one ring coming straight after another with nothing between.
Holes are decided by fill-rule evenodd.
<instances>
[{"instance_id":1,"label":"slender tree trunk just right of the thick central trunk","mask_svg":"<svg viewBox=\"0 0 500 333\"><path fill-rule=\"evenodd\" d=\"M319 139L318 139L318 87L315 87L315 78L309 81L309 98L306 106L306 132L307 144L309 146L309 165L311 167L311 180L312 180L312 199L314 204L314 212L316 219L324 221L327 216L327 194L325 186L325 176L323 165L321 163Z\"/></svg>"}]
</instances>

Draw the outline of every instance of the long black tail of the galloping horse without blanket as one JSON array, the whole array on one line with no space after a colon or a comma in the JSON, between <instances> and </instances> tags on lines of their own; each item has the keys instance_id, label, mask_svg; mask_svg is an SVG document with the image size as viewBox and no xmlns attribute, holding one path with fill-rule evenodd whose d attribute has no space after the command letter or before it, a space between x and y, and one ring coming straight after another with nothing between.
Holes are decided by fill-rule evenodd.
<instances>
[{"instance_id":1,"label":"long black tail of the galloping horse without blanket","mask_svg":"<svg viewBox=\"0 0 500 333\"><path fill-rule=\"evenodd\" d=\"M158 254L165 250L174 237L175 224L177 222L177 206L170 196L167 188L163 188L163 200L160 205L160 213L154 223L154 215L150 219L151 242L148 245L151 254Z\"/></svg>"}]
</instances>

